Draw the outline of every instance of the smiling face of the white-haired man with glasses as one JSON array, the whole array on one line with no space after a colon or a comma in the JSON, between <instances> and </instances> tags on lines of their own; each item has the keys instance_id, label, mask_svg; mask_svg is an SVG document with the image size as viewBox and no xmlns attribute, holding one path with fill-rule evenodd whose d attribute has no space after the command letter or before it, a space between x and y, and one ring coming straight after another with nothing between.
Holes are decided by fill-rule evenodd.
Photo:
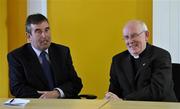
<instances>
[{"instance_id":1,"label":"smiling face of the white-haired man with glasses","mask_svg":"<svg viewBox=\"0 0 180 109\"><path fill-rule=\"evenodd\" d=\"M142 29L138 23L130 23L125 26L123 36L126 47L132 56L138 56L146 48L149 33Z\"/></svg>"}]
</instances>

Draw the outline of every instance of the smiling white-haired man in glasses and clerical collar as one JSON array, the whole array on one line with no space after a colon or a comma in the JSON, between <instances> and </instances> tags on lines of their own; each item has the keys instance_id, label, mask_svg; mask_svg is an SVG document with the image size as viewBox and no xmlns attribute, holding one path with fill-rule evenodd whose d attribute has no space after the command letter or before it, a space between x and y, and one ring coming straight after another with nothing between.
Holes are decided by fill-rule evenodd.
<instances>
[{"instance_id":1,"label":"smiling white-haired man in glasses and clerical collar","mask_svg":"<svg viewBox=\"0 0 180 109\"><path fill-rule=\"evenodd\" d=\"M129 21L123 29L127 49L113 57L106 99L176 101L171 56L148 44L144 22Z\"/></svg>"}]
</instances>

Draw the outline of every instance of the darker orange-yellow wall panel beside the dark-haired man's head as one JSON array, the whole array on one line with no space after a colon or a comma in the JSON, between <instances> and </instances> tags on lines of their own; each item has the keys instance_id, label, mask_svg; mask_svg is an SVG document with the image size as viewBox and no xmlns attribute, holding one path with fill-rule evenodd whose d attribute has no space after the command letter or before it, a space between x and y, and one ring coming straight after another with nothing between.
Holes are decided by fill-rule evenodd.
<instances>
[{"instance_id":1,"label":"darker orange-yellow wall panel beside the dark-haired man's head","mask_svg":"<svg viewBox=\"0 0 180 109\"><path fill-rule=\"evenodd\" d=\"M9 51L26 42L26 0L7 0L8 49Z\"/></svg>"}]
</instances>

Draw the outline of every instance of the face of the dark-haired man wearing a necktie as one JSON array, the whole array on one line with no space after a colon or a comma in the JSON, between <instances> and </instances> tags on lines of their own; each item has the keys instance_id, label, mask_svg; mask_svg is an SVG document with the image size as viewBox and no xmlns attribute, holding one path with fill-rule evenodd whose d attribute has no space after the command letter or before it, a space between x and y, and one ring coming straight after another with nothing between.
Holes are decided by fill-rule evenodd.
<instances>
[{"instance_id":1,"label":"face of the dark-haired man wearing a necktie","mask_svg":"<svg viewBox=\"0 0 180 109\"><path fill-rule=\"evenodd\" d=\"M31 33L27 33L31 45L40 50L46 50L51 44L50 28L47 21L31 24Z\"/></svg>"}]
</instances>

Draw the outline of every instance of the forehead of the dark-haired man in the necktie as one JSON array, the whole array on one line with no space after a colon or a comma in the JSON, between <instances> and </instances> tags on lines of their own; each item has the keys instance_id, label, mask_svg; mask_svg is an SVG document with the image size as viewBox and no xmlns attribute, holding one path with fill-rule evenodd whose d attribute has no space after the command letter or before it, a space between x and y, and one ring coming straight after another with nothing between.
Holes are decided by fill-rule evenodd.
<instances>
[{"instance_id":1,"label":"forehead of the dark-haired man in the necktie","mask_svg":"<svg viewBox=\"0 0 180 109\"><path fill-rule=\"evenodd\" d=\"M49 24L47 21L42 21L38 24L31 24L31 29L45 29L49 27Z\"/></svg>"}]
</instances>

